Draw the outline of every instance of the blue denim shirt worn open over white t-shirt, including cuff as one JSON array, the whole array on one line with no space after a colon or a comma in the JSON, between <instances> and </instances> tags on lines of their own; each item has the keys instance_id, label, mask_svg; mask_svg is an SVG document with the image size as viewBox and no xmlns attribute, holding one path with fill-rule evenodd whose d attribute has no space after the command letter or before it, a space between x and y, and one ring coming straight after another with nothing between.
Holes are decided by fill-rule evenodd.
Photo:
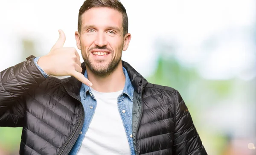
<instances>
[{"instance_id":1,"label":"blue denim shirt worn open over white t-shirt, including cuff","mask_svg":"<svg viewBox=\"0 0 256 155\"><path fill-rule=\"evenodd\" d=\"M47 78L48 75L37 64L38 59L39 57L34 59L35 65L38 67L39 70L41 70L44 77ZM116 104L118 105L119 114L120 114L120 117L122 118L122 122L125 127L126 137L128 139L128 143L130 146L131 155L135 155L133 139L132 139L132 126L131 126L134 87L131 85L131 81L129 79L128 73L124 67L123 67L123 72L125 74L125 87L122 93L119 95ZM87 70L85 70L84 76L88 78ZM84 136L90 126L90 122L93 118L93 115L97 106L97 101L93 96L93 93L91 92L90 87L88 87L87 85L84 85L84 84L81 85L80 97L81 97L81 102L84 107L84 113L85 113L84 124L80 132L80 135L76 140L76 143L73 145L73 148L70 150L69 155L76 155L77 152L79 151L79 148L81 147L82 141L84 140ZM122 113L122 110L125 110L125 113Z\"/></svg>"}]
</instances>

